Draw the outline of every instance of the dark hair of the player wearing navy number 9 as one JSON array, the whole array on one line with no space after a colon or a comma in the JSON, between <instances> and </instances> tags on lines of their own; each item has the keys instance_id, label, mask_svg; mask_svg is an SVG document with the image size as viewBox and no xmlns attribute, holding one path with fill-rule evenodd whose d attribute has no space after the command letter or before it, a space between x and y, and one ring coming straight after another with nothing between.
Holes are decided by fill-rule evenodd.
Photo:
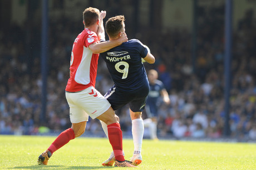
<instances>
[{"instance_id":1,"label":"dark hair of the player wearing navy number 9","mask_svg":"<svg viewBox=\"0 0 256 170\"><path fill-rule=\"evenodd\" d=\"M119 34L121 29L123 28L122 23L124 23L124 21L124 16L115 16L107 20L106 32L109 35L109 37L116 37L117 34Z\"/></svg>"}]
</instances>

